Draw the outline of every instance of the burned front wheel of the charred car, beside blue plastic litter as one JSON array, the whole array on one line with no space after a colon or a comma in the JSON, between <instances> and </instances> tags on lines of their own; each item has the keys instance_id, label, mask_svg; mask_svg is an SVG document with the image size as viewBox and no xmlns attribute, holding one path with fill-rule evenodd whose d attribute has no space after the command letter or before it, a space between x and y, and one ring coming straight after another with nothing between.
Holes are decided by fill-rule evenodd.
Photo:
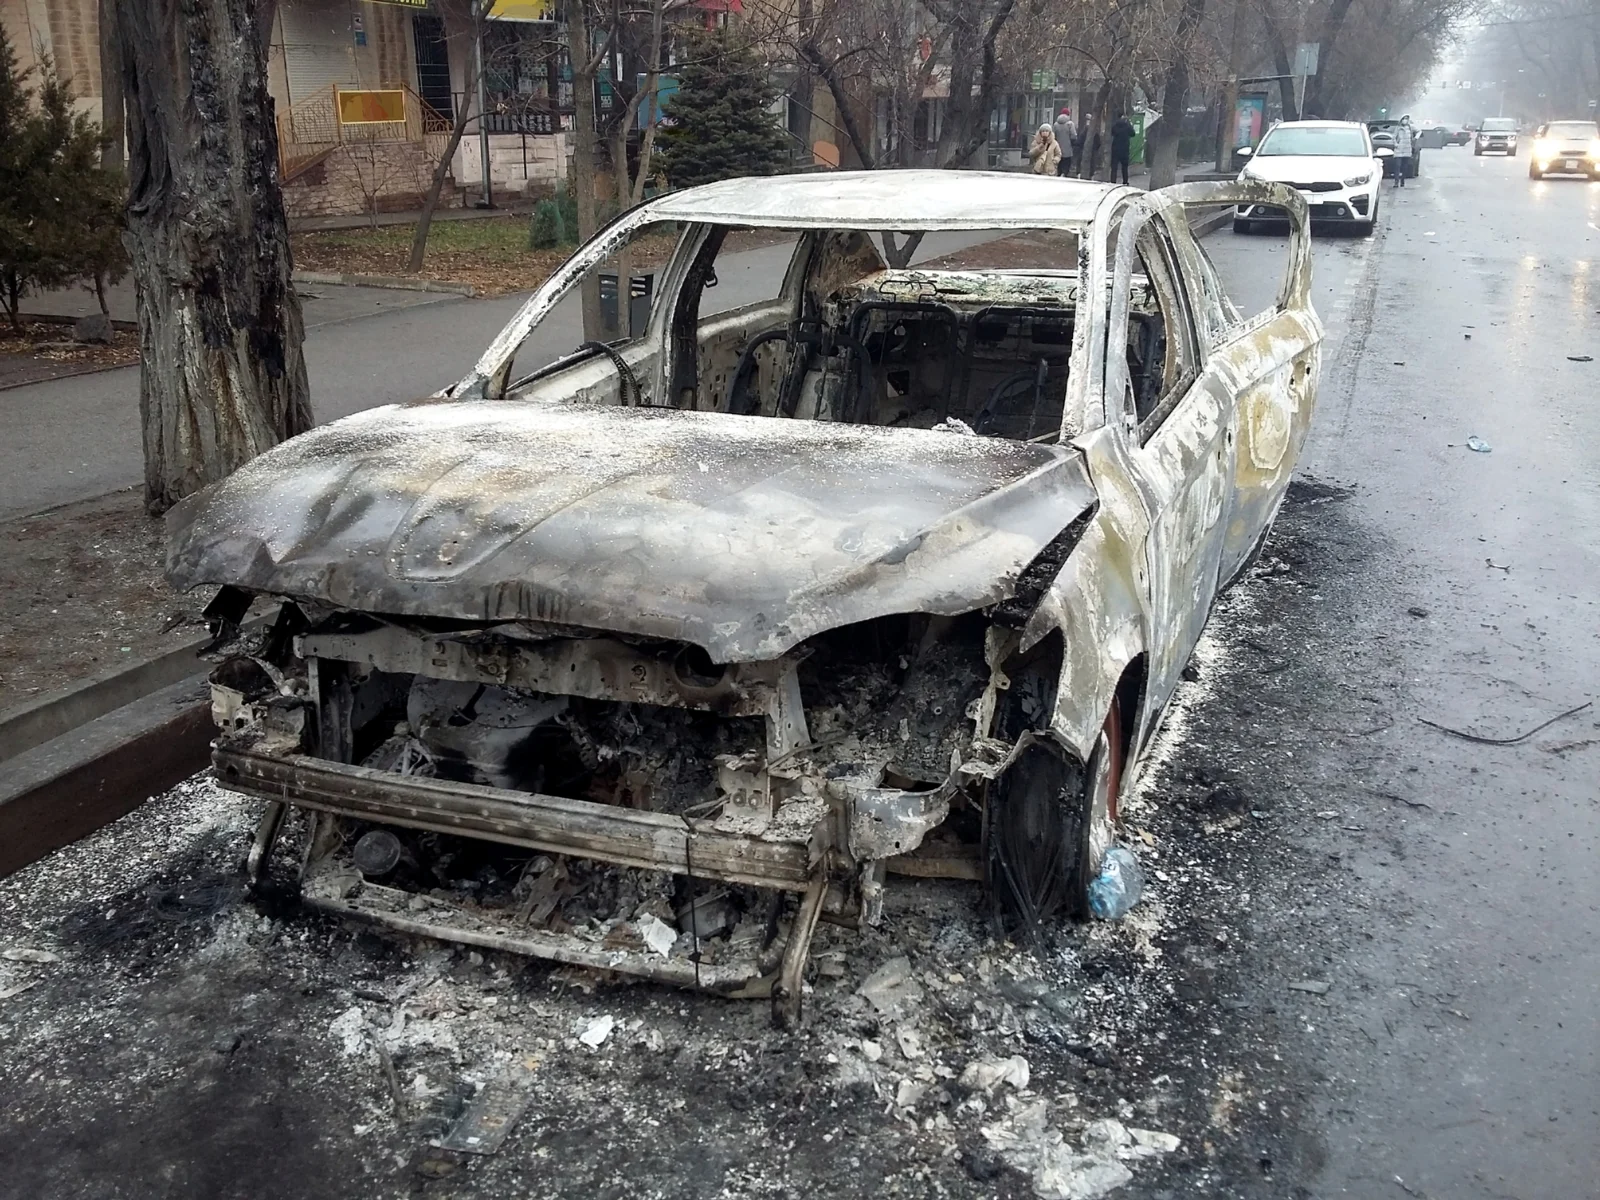
<instances>
[{"instance_id":1,"label":"burned front wheel of the charred car, beside blue plastic litter","mask_svg":"<svg viewBox=\"0 0 1600 1200\"><path fill-rule=\"evenodd\" d=\"M1122 718L1112 706L1088 763L1040 738L997 781L989 888L1002 917L1024 933L1088 917L1090 883L1115 837L1122 768Z\"/></svg>"}]
</instances>

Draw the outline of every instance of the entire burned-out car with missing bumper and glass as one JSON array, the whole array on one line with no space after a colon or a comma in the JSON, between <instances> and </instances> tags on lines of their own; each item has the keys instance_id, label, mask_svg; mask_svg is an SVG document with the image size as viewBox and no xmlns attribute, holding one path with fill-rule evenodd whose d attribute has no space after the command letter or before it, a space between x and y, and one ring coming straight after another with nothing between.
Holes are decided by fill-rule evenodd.
<instances>
[{"instance_id":1,"label":"entire burned-out car with missing bumper and glass","mask_svg":"<svg viewBox=\"0 0 1600 1200\"><path fill-rule=\"evenodd\" d=\"M1246 320L1187 213L1258 202L1294 237ZM640 328L518 374L646 227ZM906 234L968 258L891 267ZM1266 182L835 173L621 216L454 387L171 514L219 624L280 603L213 674L253 878L294 813L310 906L779 1019L890 874L1083 915L1306 437L1307 256Z\"/></svg>"}]
</instances>

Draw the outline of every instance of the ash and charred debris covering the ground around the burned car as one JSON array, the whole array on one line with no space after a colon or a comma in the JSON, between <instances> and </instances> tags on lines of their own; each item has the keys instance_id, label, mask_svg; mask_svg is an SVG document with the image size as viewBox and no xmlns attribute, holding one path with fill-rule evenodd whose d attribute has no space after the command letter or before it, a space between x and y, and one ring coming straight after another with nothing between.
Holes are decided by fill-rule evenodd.
<instances>
[{"instance_id":1,"label":"ash and charred debris covering the ground around the burned car","mask_svg":"<svg viewBox=\"0 0 1600 1200\"><path fill-rule=\"evenodd\" d=\"M0 882L0 954L43 952L0 957L0 1190L1302 1195L1318 1149L1275 1046L1326 1002L1264 997L1245 960L1259 910L1322 885L1280 830L1326 800L1272 792L1291 739L1245 736L1270 698L1238 664L1330 619L1306 574L1338 538L1291 498L1213 618L1125 803L1128 918L1024 946L976 885L891 880L880 928L818 933L794 1034L246 901L256 810L190 781ZM462 1152L485 1120L504 1142Z\"/></svg>"}]
</instances>

